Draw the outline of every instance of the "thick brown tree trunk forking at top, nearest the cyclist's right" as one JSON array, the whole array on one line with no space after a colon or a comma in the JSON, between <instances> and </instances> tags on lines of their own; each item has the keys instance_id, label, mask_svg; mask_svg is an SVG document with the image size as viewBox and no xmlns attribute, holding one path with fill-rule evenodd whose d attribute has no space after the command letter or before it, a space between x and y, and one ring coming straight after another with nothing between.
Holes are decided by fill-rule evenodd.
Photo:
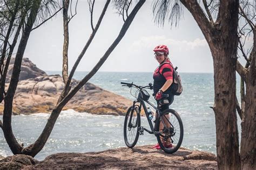
<instances>
[{"instance_id":1,"label":"thick brown tree trunk forking at top, nearest the cyclist's right","mask_svg":"<svg viewBox=\"0 0 256 170\"><path fill-rule=\"evenodd\" d=\"M219 169L240 169L235 66L239 1L220 1L218 17L210 23L197 1L180 0L191 12L210 46L214 64L214 113Z\"/></svg>"}]
</instances>

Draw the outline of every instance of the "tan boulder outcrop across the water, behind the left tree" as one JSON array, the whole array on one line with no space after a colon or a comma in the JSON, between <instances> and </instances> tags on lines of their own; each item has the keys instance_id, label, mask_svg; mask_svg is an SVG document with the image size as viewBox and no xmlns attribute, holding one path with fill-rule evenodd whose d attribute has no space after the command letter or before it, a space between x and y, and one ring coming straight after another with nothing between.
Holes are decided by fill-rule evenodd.
<instances>
[{"instance_id":1,"label":"tan boulder outcrop across the water, behind the left tree","mask_svg":"<svg viewBox=\"0 0 256 170\"><path fill-rule=\"evenodd\" d=\"M62 77L59 75L47 76L39 70L29 59L23 59L22 72L20 76L14 102L14 114L49 113L55 107L60 93L64 89ZM31 78L32 77L32 78ZM73 79L72 86L79 81ZM6 83L5 89L9 84ZM124 115L127 107L132 104L122 96L103 90L91 83L86 83L82 89L63 108L73 109L77 112L88 112L93 114ZM0 114L3 114L3 103L0 104Z\"/></svg>"}]
</instances>

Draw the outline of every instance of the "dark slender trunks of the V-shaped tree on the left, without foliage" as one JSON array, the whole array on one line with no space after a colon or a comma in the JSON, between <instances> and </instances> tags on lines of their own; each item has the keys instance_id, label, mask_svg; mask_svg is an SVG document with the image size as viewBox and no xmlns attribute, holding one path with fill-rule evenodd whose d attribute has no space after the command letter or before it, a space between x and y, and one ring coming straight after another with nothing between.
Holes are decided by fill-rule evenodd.
<instances>
[{"instance_id":1,"label":"dark slender trunks of the V-shaped tree on the left, without foliage","mask_svg":"<svg viewBox=\"0 0 256 170\"><path fill-rule=\"evenodd\" d=\"M38 8L40 6L41 1L38 0L33 0L32 1L32 10L35 12L30 12L30 16L28 18L28 22L25 27L25 33L23 33L24 37L22 36L21 42L19 43L19 48L16 54L15 58L15 64L14 64L14 71L12 73L11 77L11 83L9 85L9 89L5 95L3 91L3 96L4 96L4 114L3 114L3 124L1 125L2 130L4 132L4 137L6 139L6 142L8 143L9 147L11 148L11 151L14 154L26 154L26 155L31 155L32 157L35 157L35 155L41 151L41 149L44 147L46 141L48 140L51 131L55 125L55 122L59 116L60 111L62 111L62 108L68 103L68 101L79 91L80 88L82 88L85 83L99 70L99 68L103 65L105 60L109 57L110 53L114 50L114 48L117 46L117 44L120 42L120 40L124 37L126 31L129 29L129 26L131 25L134 17L136 16L137 12L141 8L141 6L144 4L145 0L139 0L137 4L134 6L132 11L129 14L129 9L131 6L131 0L126 1L126 0L116 0L113 1L114 6L118 9L119 12L122 12L123 19L124 19L124 24L122 26L122 29L119 32L119 35L117 38L114 40L114 42L109 46L109 49L104 53L103 57L100 58L99 62L93 67L93 69L75 86L72 87L72 77L73 74L76 71L76 68L84 56L87 48L89 47L90 43L92 42L93 37L95 36L100 23L105 15L105 11L107 9L107 6L110 3L110 0L106 1L106 4L104 6L104 9L102 10L102 14L100 15L98 22L96 26L93 26L93 8L95 4L95 0L93 1L88 1L89 2L89 7L90 7L90 12L91 12L91 28L92 28L92 34L89 37L89 40L84 46L84 49L81 51L80 55L77 58L76 63L72 67L72 70L70 74L68 74L68 47L69 47L69 22L72 19L73 16L71 12L71 17L68 15L68 10L69 6L72 3L69 0L63 0L62 1L62 8L63 8L63 28L64 28L64 44L63 44L63 80L65 83L64 90L62 94L60 95L58 102L55 106L55 108L52 110L50 114L50 118L48 119L44 130L42 131L41 135L39 135L38 139L28 147L23 147L23 145L19 144L12 133L12 128L11 128L11 113L12 113L12 100L14 98L15 90L18 84L18 78L19 78L19 73L21 71L21 62L22 62L22 57L23 53L25 50L26 43L28 42L29 38L29 33L32 30L33 23L35 22L35 18L38 15ZM76 2L77 5L77 2ZM13 10L10 10L8 13L13 13ZM45 19L47 21L48 19ZM39 24L38 26L40 26ZM35 27L37 28L37 27ZM24 39L24 40L23 40Z\"/></svg>"}]
</instances>

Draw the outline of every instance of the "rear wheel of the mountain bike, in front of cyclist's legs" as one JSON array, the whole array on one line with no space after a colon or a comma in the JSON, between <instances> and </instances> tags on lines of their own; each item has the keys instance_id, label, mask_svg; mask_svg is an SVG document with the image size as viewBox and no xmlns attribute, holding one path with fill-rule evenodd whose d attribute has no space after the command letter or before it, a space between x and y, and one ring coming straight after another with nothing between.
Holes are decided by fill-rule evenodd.
<instances>
[{"instance_id":1,"label":"rear wheel of the mountain bike, in front of cyclist's legs","mask_svg":"<svg viewBox=\"0 0 256 170\"><path fill-rule=\"evenodd\" d=\"M176 152L183 141L183 123L179 114L167 109L156 121L157 141L166 153Z\"/></svg>"}]
</instances>

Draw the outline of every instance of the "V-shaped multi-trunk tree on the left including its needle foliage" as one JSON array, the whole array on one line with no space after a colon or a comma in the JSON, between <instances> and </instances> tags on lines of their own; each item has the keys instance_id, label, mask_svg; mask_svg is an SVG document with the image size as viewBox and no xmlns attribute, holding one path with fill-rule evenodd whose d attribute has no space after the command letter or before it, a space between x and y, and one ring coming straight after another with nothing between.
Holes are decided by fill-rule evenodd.
<instances>
[{"instance_id":1,"label":"V-shaped multi-trunk tree on the left including its needle foliage","mask_svg":"<svg viewBox=\"0 0 256 170\"><path fill-rule=\"evenodd\" d=\"M100 23L105 15L105 11L110 4L110 0L107 0L102 13L98 19L97 24L93 24L93 10L95 1L88 1L89 9L91 13L91 28L92 33L89 37L87 43L85 44L83 50L77 58L76 63L72 67L70 74L68 74L68 47L69 47L69 23L71 19L77 14L72 13L70 10L70 15L68 14L69 5L72 5L72 1L63 0L60 1L42 1L42 0L28 0L28 1L4 1L1 2L1 89L0 89L0 101L4 101L4 111L3 111L3 123L1 127L4 133L6 142L8 143L12 153L14 154L26 154L35 157L35 155L41 151L44 147L46 141L48 140L53 126L62 111L63 107L68 103L68 101L75 96L75 94L87 83L87 81L99 70L103 65L105 60L109 57L110 53L114 50L120 40L124 37L126 31L129 29L134 17L137 12L144 4L145 0L137 1L134 8L131 6L131 1L113 1L113 5L118 10L119 14L123 16L123 26L112 44L110 44L109 49L104 53L103 57L100 58L99 62L93 67L93 69L82 79L78 84L72 86L72 77L76 71L76 68L83 58L87 48L92 42ZM77 3L75 4L75 8ZM21 64L28 43L31 31L35 30L43 23L48 21L57 12L63 10L63 28L64 28L64 43L63 43L63 71L62 76L65 83L64 90L62 91L56 106L53 108L50 118L48 119L44 130L38 139L28 147L23 147L19 144L11 128L11 116L12 116L12 105L14 95L17 89L19 74L21 72ZM33 27L34 26L34 27ZM16 46L19 33L22 33L21 39L19 40L18 49L15 55L14 68L12 71L12 76L10 79L10 84L5 90L5 78L6 72L9 67L12 53L14 52L14 47ZM9 43L12 40L12 43Z\"/></svg>"}]
</instances>

